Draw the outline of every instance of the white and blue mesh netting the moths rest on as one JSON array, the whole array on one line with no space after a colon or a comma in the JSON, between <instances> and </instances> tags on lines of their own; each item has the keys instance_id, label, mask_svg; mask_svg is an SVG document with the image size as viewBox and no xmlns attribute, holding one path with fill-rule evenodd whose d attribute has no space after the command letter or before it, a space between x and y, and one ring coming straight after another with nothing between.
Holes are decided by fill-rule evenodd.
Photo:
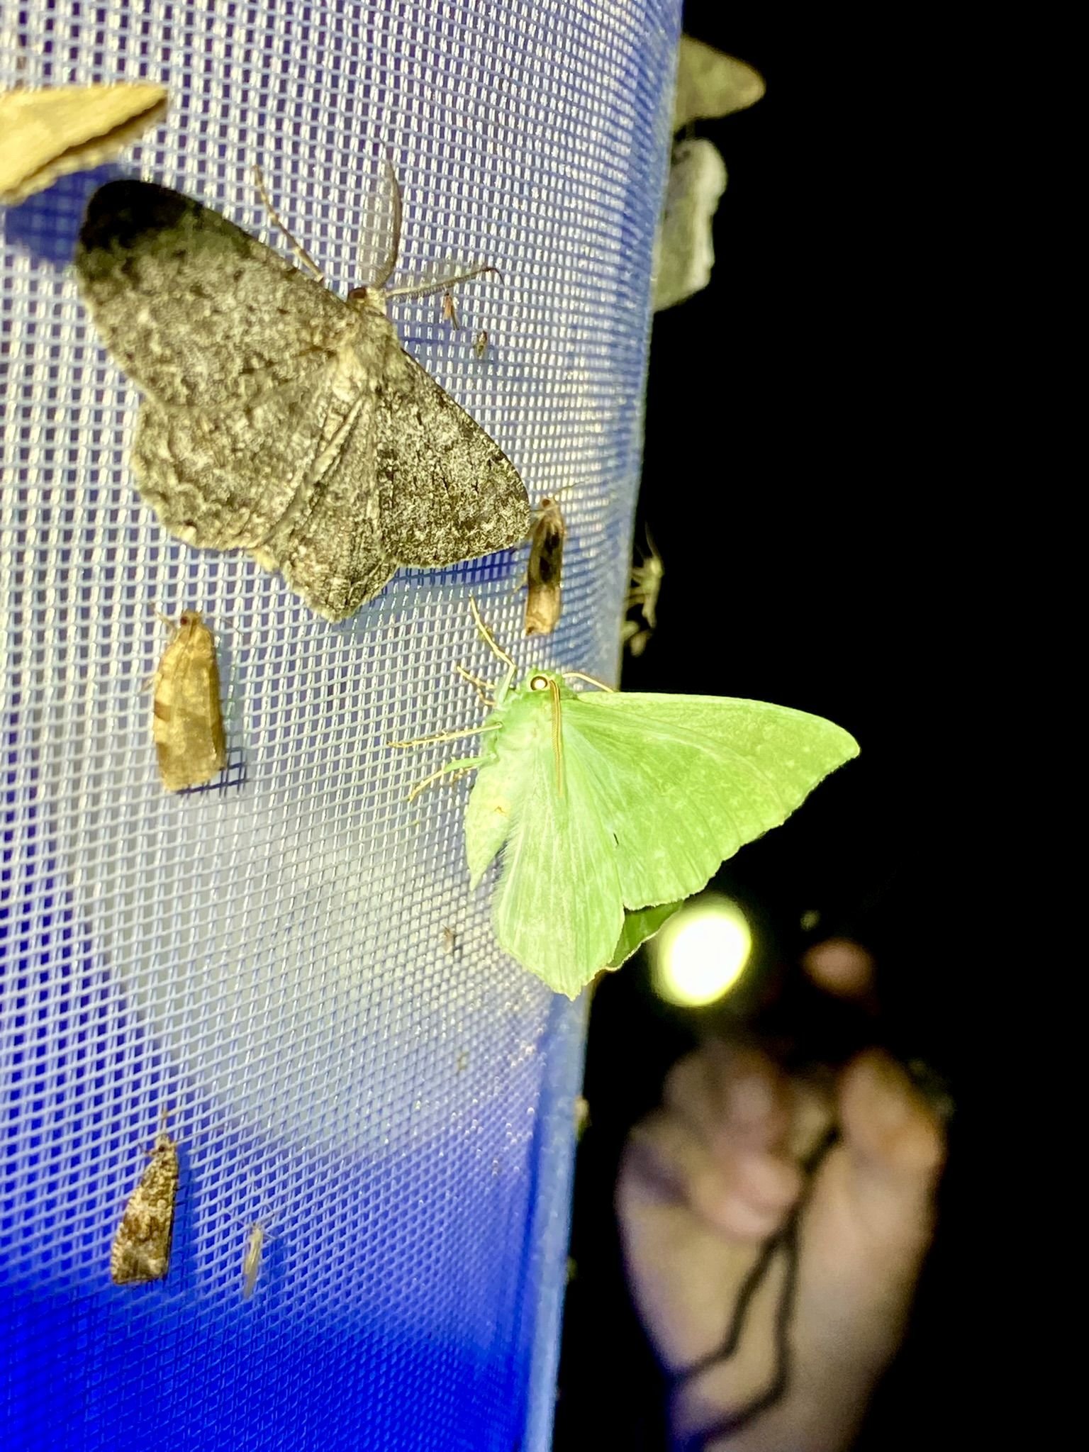
<instances>
[{"instance_id":1,"label":"white and blue mesh netting the moths rest on","mask_svg":"<svg viewBox=\"0 0 1089 1452\"><path fill-rule=\"evenodd\" d=\"M482 719L473 594L529 665L617 669L677 0L1 6L0 86L148 77L167 121L0 213L6 836L4 1445L463 1448L549 1442L582 1006L505 958L469 893L470 781L392 738ZM87 197L141 176L401 337L568 523L565 613L520 637L526 552L402 571L330 624L244 553L141 504L139 395L70 264ZM486 330L489 347L472 347ZM171 796L151 745L157 611L216 633L228 767ZM449 751L449 749L447 749ZM182 1162L166 1281L109 1247L163 1109ZM241 1295L250 1227L264 1227Z\"/></svg>"}]
</instances>

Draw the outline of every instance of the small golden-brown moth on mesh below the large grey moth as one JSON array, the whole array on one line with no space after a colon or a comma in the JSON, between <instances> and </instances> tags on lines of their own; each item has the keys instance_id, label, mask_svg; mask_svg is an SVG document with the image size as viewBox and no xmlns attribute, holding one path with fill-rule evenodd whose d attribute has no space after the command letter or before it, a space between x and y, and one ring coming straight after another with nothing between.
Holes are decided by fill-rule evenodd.
<instances>
[{"instance_id":1,"label":"small golden-brown moth on mesh below the large grey moth","mask_svg":"<svg viewBox=\"0 0 1089 1452\"><path fill-rule=\"evenodd\" d=\"M151 732L167 791L203 786L227 765L215 640L195 610L184 611L158 664Z\"/></svg>"}]
</instances>

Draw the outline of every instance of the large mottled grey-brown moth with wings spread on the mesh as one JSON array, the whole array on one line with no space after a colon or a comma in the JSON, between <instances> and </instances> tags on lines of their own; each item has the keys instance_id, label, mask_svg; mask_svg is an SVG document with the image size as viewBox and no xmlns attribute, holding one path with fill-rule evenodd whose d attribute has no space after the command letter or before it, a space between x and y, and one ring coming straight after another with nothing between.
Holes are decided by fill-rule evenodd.
<instances>
[{"instance_id":1,"label":"large mottled grey-brown moth with wings spread on the mesh","mask_svg":"<svg viewBox=\"0 0 1089 1452\"><path fill-rule=\"evenodd\" d=\"M380 286L338 298L225 216L147 182L94 193L76 270L106 347L145 395L132 466L179 539L248 550L330 620L401 565L524 539L517 470L404 351Z\"/></svg>"}]
</instances>

